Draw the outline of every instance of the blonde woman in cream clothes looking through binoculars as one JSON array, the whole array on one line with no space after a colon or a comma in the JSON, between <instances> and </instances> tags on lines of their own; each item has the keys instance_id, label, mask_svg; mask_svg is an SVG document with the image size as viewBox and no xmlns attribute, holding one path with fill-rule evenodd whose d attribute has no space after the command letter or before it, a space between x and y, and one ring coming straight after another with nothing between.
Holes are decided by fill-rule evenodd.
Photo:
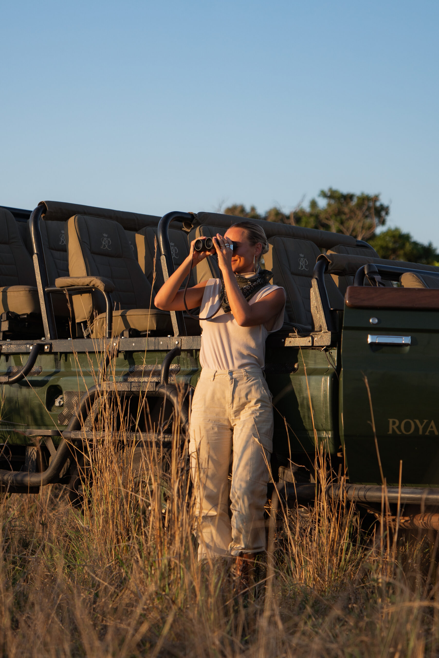
<instances>
[{"instance_id":1,"label":"blonde woman in cream clothes looking through binoculars","mask_svg":"<svg viewBox=\"0 0 439 658\"><path fill-rule=\"evenodd\" d=\"M198 558L232 555L238 567L265 551L264 505L272 452L271 393L263 375L265 340L280 329L286 295L269 284L259 261L269 246L254 222L239 222L194 251L157 293L164 311L184 309L182 282L217 254L221 279L188 288L189 309L201 307L201 376L192 401L190 455L197 485ZM231 519L228 515L228 475Z\"/></svg>"}]
</instances>

